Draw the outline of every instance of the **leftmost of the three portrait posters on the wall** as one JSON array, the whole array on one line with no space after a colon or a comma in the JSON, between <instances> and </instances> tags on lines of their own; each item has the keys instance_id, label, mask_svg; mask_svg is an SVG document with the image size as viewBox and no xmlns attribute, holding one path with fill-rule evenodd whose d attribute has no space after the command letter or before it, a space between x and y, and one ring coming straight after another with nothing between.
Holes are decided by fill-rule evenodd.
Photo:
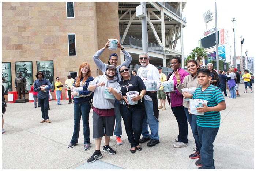
<instances>
[{"instance_id":1,"label":"leftmost of the three portrait posters on the wall","mask_svg":"<svg viewBox=\"0 0 256 171\"><path fill-rule=\"evenodd\" d=\"M2 62L2 85L4 86L4 94L8 94L9 91L12 91L12 74L11 74L11 63Z\"/></svg>"}]
</instances>

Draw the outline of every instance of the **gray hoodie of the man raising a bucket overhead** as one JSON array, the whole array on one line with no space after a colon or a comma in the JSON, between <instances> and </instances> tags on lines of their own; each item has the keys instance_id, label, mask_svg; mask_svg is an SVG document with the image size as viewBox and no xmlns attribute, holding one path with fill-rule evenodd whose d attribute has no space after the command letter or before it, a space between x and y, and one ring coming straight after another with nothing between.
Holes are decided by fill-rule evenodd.
<instances>
[{"instance_id":1,"label":"gray hoodie of the man raising a bucket overhead","mask_svg":"<svg viewBox=\"0 0 256 171\"><path fill-rule=\"evenodd\" d=\"M102 72L105 72L106 71L106 68L108 67L108 64L105 64L103 63L100 59L99 59L99 56L101 56L101 54L103 53L104 51L102 49L98 50L94 55L93 55L93 60L95 62L95 64L97 65L97 67L102 71ZM125 61L123 64L121 65L118 65L116 68L117 68L117 71L116 71L116 77L117 77L117 82L121 81L121 77L120 77L120 74L119 74L119 68L121 66L125 66L128 68L129 64L131 63L132 61L132 57L131 55L126 52L125 50L123 51L124 53L124 56L125 56ZM119 58L118 58L119 60Z\"/></svg>"}]
</instances>

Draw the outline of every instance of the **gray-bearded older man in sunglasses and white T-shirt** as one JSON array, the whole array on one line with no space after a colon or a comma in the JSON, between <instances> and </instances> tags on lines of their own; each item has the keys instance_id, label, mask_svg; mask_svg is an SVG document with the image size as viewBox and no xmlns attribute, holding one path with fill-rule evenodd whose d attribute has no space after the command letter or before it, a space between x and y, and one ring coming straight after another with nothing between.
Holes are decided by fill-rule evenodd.
<instances>
[{"instance_id":1,"label":"gray-bearded older man in sunglasses and white T-shirt","mask_svg":"<svg viewBox=\"0 0 256 171\"><path fill-rule=\"evenodd\" d=\"M158 135L158 99L157 91L161 86L160 75L157 68L149 63L149 56L147 52L140 53L139 62L142 65L138 69L137 75L142 78L142 80L157 80L157 90L156 91L147 91L144 96L144 108L146 111L145 118L143 119L142 126L142 139L140 143L147 143L148 147L153 147L156 144L160 143ZM148 132L148 127L151 130L151 134Z\"/></svg>"}]
</instances>

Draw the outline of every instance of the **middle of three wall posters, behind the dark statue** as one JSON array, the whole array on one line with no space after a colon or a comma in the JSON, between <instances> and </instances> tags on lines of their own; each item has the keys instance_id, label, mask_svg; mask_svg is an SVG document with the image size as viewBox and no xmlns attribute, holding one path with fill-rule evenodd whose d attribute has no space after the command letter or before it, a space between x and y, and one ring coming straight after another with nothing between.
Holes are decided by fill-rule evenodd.
<instances>
[{"instance_id":1,"label":"middle of three wall posters, behind the dark statue","mask_svg":"<svg viewBox=\"0 0 256 171\"><path fill-rule=\"evenodd\" d=\"M33 67L32 61L15 62L15 76L17 77L17 72L20 71L22 76L26 78L26 88L25 93L29 93L31 86L34 83L33 80Z\"/></svg>"}]
</instances>

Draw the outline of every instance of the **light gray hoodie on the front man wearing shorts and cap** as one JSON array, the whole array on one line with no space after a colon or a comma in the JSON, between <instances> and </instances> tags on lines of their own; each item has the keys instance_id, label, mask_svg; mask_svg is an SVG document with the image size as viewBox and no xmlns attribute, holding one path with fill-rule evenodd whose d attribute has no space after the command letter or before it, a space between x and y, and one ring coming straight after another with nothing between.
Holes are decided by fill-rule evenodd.
<instances>
[{"instance_id":1,"label":"light gray hoodie on the front man wearing shorts and cap","mask_svg":"<svg viewBox=\"0 0 256 171\"><path fill-rule=\"evenodd\" d=\"M112 109L114 108L115 99L105 99L104 92L106 87L113 87L117 89L117 92L122 95L120 84L116 81L117 77L114 76L113 80L108 80L105 72L103 75L97 76L93 81L89 83L89 85L97 84L99 82L104 82L105 86L97 87L94 90L93 95L93 106L97 109Z\"/></svg>"}]
</instances>

